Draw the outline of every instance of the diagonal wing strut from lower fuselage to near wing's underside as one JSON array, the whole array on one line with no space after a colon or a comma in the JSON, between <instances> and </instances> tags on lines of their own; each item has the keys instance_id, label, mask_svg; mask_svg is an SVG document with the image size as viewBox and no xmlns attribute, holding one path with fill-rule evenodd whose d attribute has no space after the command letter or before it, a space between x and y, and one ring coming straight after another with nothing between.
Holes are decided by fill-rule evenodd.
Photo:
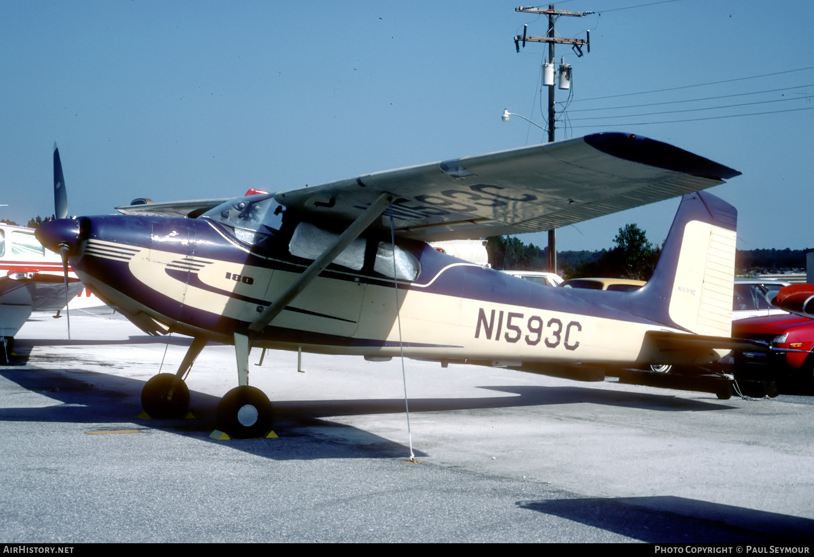
<instances>
[{"instance_id":1,"label":"diagonal wing strut from lower fuselage to near wing's underside","mask_svg":"<svg viewBox=\"0 0 814 557\"><path fill-rule=\"evenodd\" d=\"M331 261L334 261L336 257L339 256L339 253L343 252L353 240L357 239L373 221L384 213L384 209L387 208L387 204L390 203L391 200L392 195L388 193L379 195L379 197L370 204L370 207L366 208L365 212L361 213L357 220L353 221L351 226L348 226L348 229L339 235L335 243L322 252L322 255L317 257L317 259L313 260L309 268L304 270L303 274L300 274L300 277L288 287L288 290L283 292L277 300L274 300L274 303L269 305L269 307L260 314L260 317L256 318L255 322L252 322L249 326L249 330L253 332L262 331L263 327L277 317L287 305L291 304L291 301L294 300L314 278L317 278L317 276L322 273L322 270L330 265Z\"/></svg>"}]
</instances>

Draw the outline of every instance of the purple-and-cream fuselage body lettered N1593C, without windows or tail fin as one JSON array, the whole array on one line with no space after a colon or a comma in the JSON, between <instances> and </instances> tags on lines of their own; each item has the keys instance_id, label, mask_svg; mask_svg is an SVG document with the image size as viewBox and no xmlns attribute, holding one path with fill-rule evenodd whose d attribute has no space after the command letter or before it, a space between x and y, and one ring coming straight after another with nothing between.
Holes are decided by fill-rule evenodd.
<instances>
[{"instance_id":1,"label":"purple-and-cream fuselage body lettered N1593C, without windows or tail fin","mask_svg":"<svg viewBox=\"0 0 814 557\"><path fill-rule=\"evenodd\" d=\"M285 232L248 243L208 218L84 218L90 236L74 270L151 333L230 342L310 262L291 255ZM415 240L397 242L418 276L397 280L396 302L396 281L371 261L389 238L363 240L358 270L330 265L252 345L397 356L396 307L405 355L448 361L635 362L646 331L675 330L620 309L635 310L637 292L543 287Z\"/></svg>"}]
</instances>

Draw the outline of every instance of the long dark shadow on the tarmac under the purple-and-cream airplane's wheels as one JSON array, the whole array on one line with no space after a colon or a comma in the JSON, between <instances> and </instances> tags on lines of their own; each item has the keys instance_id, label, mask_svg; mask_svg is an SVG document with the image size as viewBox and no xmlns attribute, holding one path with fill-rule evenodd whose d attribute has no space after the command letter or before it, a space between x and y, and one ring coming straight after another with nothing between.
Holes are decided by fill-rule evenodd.
<instances>
[{"instance_id":1,"label":"long dark shadow on the tarmac under the purple-and-cream airplane's wheels","mask_svg":"<svg viewBox=\"0 0 814 557\"><path fill-rule=\"evenodd\" d=\"M136 419L141 412L144 382L118 375L81 369L25 368L0 369L0 376L20 387L61 404L34 408L0 408L0 422L139 423L145 431L158 429L179 435L195 436L204 441L216 429L216 409L220 401L206 393L190 390L190 412L195 419ZM487 387L514 397L413 398L411 412L450 410L489 410L521 406L546 406L569 403L628 406L654 411L726 410L733 408L717 402L687 400L672 395L614 392L584 387L545 387L519 385ZM267 441L230 441L230 446L274 459L300 458L390 458L409 454L406 445L396 443L360 428L331 422L331 416L361 414L400 414L405 411L403 399L354 399L325 401L273 401L274 431L280 439ZM116 425L116 429L120 428ZM343 428L341 435L330 435L331 428ZM339 430L335 430L339 431ZM303 443L310 443L304 450ZM326 443L325 441L334 441ZM296 441L296 442L295 442ZM406 440L405 440L406 441ZM416 456L425 456L416 452Z\"/></svg>"}]
</instances>

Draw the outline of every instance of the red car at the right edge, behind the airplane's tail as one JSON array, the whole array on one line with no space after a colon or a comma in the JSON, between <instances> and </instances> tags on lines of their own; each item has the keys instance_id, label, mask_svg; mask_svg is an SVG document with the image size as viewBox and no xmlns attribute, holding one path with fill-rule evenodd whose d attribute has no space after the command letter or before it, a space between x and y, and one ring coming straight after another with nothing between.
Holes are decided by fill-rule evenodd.
<instances>
[{"instance_id":1,"label":"red car at the right edge, behind the airplane's tail","mask_svg":"<svg viewBox=\"0 0 814 557\"><path fill-rule=\"evenodd\" d=\"M792 314L739 319L732 322L732 336L757 340L775 348L800 350L777 353L770 360L754 353L737 354L736 374L739 369L747 370L752 364L768 364L774 379L781 383L790 381L807 390L814 385L814 319Z\"/></svg>"}]
</instances>

